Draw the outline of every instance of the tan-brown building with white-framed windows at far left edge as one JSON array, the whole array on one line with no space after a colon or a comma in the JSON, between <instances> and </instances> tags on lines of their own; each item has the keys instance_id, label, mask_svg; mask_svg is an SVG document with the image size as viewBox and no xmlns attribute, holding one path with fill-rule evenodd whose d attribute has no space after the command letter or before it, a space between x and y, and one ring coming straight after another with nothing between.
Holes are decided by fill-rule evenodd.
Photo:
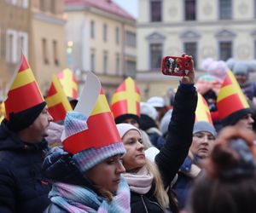
<instances>
[{"instance_id":1,"label":"tan-brown building with white-framed windows at far left edge","mask_svg":"<svg viewBox=\"0 0 256 213\"><path fill-rule=\"evenodd\" d=\"M7 94L9 81L20 60L20 50L26 57L30 33L30 13L28 0L0 1L0 101Z\"/></svg>"}]
</instances>

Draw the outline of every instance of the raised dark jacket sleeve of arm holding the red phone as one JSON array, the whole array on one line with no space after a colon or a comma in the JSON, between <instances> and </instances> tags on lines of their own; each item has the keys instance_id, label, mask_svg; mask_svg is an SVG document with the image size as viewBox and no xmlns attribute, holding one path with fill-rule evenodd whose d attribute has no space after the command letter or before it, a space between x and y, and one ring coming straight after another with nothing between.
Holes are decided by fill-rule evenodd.
<instances>
[{"instance_id":1,"label":"raised dark jacket sleeve of arm holding the red phone","mask_svg":"<svg viewBox=\"0 0 256 213\"><path fill-rule=\"evenodd\" d=\"M197 93L194 85L180 84L175 95L166 144L155 157L164 186L168 187L189 153L195 123Z\"/></svg>"}]
</instances>

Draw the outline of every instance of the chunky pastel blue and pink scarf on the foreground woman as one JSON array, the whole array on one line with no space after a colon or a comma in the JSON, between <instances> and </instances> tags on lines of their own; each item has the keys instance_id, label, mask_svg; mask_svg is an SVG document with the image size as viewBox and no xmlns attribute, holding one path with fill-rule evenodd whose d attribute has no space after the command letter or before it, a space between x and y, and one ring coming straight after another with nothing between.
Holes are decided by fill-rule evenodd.
<instances>
[{"instance_id":1,"label":"chunky pastel blue and pink scarf on the foreground woman","mask_svg":"<svg viewBox=\"0 0 256 213\"><path fill-rule=\"evenodd\" d=\"M49 199L67 212L108 213L131 212L130 190L123 177L112 201L97 195L88 187L56 182L49 192Z\"/></svg>"}]
</instances>

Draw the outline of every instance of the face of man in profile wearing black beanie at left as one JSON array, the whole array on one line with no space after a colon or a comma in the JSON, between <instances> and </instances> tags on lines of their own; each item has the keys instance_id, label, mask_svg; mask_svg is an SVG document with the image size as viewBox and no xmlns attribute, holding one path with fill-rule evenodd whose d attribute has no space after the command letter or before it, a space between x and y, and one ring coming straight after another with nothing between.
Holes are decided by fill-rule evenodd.
<instances>
[{"instance_id":1,"label":"face of man in profile wearing black beanie at left","mask_svg":"<svg viewBox=\"0 0 256 213\"><path fill-rule=\"evenodd\" d=\"M42 141L44 137L48 136L47 130L52 120L53 118L49 114L48 108L44 107L38 118L29 126L34 141Z\"/></svg>"}]
</instances>

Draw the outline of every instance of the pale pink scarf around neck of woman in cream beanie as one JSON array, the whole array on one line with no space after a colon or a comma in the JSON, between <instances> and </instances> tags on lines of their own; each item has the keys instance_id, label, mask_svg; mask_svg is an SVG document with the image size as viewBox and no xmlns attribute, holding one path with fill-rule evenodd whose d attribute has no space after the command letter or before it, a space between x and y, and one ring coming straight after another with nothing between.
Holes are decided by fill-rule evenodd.
<instances>
[{"instance_id":1,"label":"pale pink scarf around neck of woman in cream beanie","mask_svg":"<svg viewBox=\"0 0 256 213\"><path fill-rule=\"evenodd\" d=\"M153 174L146 166L143 166L136 174L125 173L123 176L125 177L131 192L145 194L148 193L152 186Z\"/></svg>"}]
</instances>

